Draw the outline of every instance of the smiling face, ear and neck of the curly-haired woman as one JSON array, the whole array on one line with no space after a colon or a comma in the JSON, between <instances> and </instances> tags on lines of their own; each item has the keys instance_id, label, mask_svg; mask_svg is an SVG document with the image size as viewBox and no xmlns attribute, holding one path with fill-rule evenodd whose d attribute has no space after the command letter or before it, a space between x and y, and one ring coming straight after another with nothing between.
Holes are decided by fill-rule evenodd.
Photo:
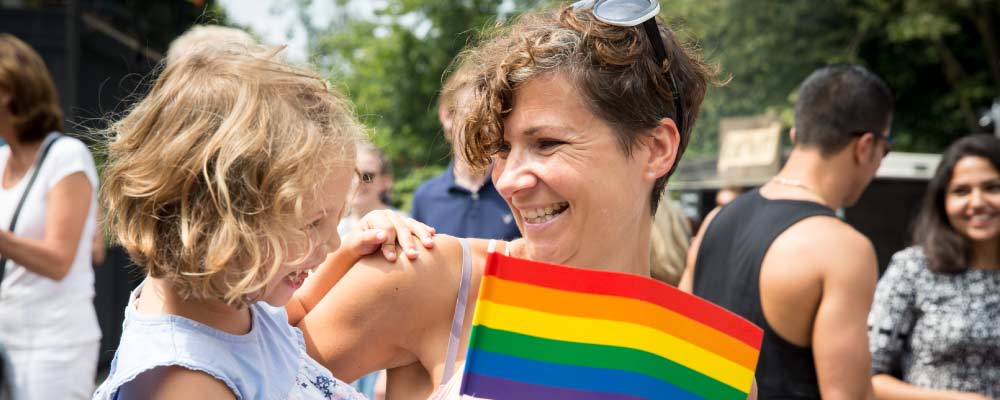
<instances>
[{"instance_id":1,"label":"smiling face, ear and neck of the curly-haired woman","mask_svg":"<svg viewBox=\"0 0 1000 400\"><path fill-rule=\"evenodd\" d=\"M639 260L649 252L638 247L649 242L652 218L636 210L649 209L656 178L672 166L676 130L659 128L626 156L613 128L577 93L563 74L537 77L515 92L517 106L504 121L493 180L525 238L518 255L649 275L648 261ZM614 190L605 190L610 182ZM594 245L608 237L637 241Z\"/></svg>"}]
</instances>

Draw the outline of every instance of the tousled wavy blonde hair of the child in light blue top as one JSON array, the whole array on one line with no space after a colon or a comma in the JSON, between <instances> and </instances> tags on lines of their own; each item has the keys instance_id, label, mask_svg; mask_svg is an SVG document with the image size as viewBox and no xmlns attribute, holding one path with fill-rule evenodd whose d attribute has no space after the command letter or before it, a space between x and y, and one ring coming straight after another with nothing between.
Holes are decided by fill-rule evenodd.
<instances>
[{"instance_id":1,"label":"tousled wavy blonde hair of the child in light blue top","mask_svg":"<svg viewBox=\"0 0 1000 400\"><path fill-rule=\"evenodd\" d=\"M184 298L243 306L301 262L287 242L318 245L303 202L353 168L364 141L348 102L277 52L234 45L170 60L109 129L108 226Z\"/></svg>"}]
</instances>

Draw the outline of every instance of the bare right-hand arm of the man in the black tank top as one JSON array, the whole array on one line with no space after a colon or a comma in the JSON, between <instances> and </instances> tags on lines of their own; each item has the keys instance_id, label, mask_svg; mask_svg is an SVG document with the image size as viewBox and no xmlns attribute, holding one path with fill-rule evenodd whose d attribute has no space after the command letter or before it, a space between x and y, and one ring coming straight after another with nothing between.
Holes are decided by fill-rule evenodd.
<instances>
[{"instance_id":1,"label":"bare right-hand arm of the man in the black tank top","mask_svg":"<svg viewBox=\"0 0 1000 400\"><path fill-rule=\"evenodd\" d=\"M822 294L813 321L812 347L824 399L872 399L868 312L878 261L871 242L830 221L810 262L822 265Z\"/></svg>"}]
</instances>

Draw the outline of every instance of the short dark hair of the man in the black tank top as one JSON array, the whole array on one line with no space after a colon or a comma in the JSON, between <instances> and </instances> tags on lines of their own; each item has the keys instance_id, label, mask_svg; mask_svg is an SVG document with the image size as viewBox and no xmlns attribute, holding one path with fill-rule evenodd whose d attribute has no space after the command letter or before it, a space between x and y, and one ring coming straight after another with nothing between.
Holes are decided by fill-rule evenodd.
<instances>
[{"instance_id":1,"label":"short dark hair of the man in the black tank top","mask_svg":"<svg viewBox=\"0 0 1000 400\"><path fill-rule=\"evenodd\" d=\"M795 144L829 156L862 132L882 135L892 121L894 102L889 86L865 67L820 68L799 87Z\"/></svg>"}]
</instances>

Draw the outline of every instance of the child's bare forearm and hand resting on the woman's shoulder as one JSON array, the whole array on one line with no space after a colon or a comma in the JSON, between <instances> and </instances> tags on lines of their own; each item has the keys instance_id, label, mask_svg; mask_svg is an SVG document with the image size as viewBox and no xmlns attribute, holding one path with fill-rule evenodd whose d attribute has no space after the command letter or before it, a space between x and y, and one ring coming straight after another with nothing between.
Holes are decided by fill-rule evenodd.
<instances>
[{"instance_id":1,"label":"child's bare forearm and hand resting on the woman's shoulder","mask_svg":"<svg viewBox=\"0 0 1000 400\"><path fill-rule=\"evenodd\" d=\"M434 228L395 212L368 213L358 221L355 233L345 238L343 245L327 256L326 261L309 275L285 304L288 323L297 325L362 257L381 249L386 260L395 261L396 243L399 243L407 257L415 259L418 252L414 239L419 238L424 247L431 248L434 247L433 236Z\"/></svg>"}]
</instances>

